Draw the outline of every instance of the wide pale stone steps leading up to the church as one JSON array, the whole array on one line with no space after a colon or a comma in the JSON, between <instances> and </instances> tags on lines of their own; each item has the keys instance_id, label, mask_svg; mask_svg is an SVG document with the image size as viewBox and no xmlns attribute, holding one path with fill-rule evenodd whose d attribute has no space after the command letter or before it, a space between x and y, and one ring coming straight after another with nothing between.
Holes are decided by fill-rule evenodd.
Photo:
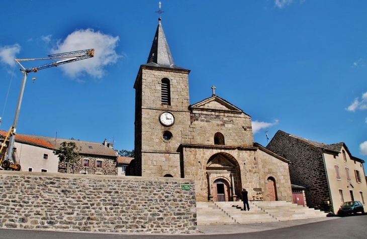
<instances>
[{"instance_id":1,"label":"wide pale stone steps leading up to the church","mask_svg":"<svg viewBox=\"0 0 367 239\"><path fill-rule=\"evenodd\" d=\"M251 201L250 211L243 202L197 202L198 225L275 222L326 217L327 213L285 201Z\"/></svg>"}]
</instances>

